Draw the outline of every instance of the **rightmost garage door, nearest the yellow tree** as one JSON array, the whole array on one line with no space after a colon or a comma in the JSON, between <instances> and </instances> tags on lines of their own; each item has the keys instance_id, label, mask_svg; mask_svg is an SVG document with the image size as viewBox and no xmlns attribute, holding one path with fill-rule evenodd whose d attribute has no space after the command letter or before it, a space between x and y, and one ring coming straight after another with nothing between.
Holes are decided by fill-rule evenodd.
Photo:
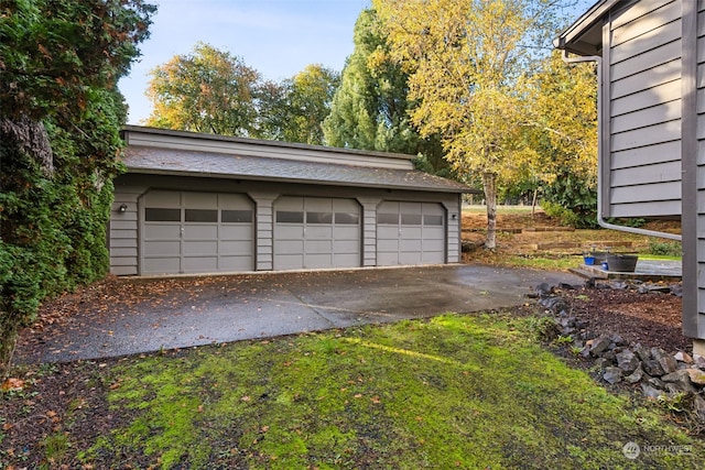
<instances>
[{"instance_id":1,"label":"rightmost garage door, nearest the yellow tree","mask_svg":"<svg viewBox=\"0 0 705 470\"><path fill-rule=\"evenodd\" d=\"M377 264L445 262L445 210L435 203L384 201L377 209Z\"/></svg>"}]
</instances>

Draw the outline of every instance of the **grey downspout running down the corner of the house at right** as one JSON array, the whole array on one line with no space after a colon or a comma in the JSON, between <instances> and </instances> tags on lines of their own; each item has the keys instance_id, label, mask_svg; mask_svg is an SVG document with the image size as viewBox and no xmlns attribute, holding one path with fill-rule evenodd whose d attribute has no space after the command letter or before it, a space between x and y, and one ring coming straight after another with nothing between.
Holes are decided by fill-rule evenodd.
<instances>
[{"instance_id":1,"label":"grey downspout running down the corner of the house at right","mask_svg":"<svg viewBox=\"0 0 705 470\"><path fill-rule=\"evenodd\" d=\"M572 58L568 57L568 52L564 48L562 58L566 64L577 64L581 62L594 62L597 64L597 223L606 229L681 241L682 237L676 233L662 232L658 230L646 230L636 227L618 226L616 223L609 223L603 218L603 57L600 57L599 55L588 55Z\"/></svg>"}]
</instances>

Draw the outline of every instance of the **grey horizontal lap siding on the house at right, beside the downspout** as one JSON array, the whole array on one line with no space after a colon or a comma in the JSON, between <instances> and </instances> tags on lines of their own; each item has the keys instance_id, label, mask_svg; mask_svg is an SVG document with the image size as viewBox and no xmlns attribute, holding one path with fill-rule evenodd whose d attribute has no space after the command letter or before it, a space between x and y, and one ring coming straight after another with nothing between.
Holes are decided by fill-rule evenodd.
<instances>
[{"instance_id":1,"label":"grey horizontal lap siding on the house at right, beside the downspout","mask_svg":"<svg viewBox=\"0 0 705 470\"><path fill-rule=\"evenodd\" d=\"M609 30L609 216L681 214L681 0L639 2Z\"/></svg>"}]
</instances>

